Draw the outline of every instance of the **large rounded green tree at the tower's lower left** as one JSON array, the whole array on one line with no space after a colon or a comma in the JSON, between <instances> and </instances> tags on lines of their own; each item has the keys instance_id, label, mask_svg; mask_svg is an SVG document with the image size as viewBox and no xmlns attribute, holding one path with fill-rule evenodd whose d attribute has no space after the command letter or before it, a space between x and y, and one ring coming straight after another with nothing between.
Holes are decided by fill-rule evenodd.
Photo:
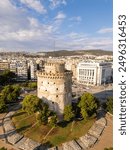
<instances>
[{"instance_id":1,"label":"large rounded green tree at the tower's lower left","mask_svg":"<svg viewBox=\"0 0 130 150\"><path fill-rule=\"evenodd\" d=\"M22 109L28 114L35 113L42 109L42 100L34 95L27 95L22 102Z\"/></svg>"}]
</instances>

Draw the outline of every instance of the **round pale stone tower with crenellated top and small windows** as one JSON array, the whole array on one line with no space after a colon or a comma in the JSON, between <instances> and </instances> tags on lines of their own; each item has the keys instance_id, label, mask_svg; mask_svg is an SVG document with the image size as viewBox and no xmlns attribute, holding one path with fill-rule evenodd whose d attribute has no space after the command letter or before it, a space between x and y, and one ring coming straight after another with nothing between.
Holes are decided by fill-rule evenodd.
<instances>
[{"instance_id":1,"label":"round pale stone tower with crenellated top and small windows","mask_svg":"<svg viewBox=\"0 0 130 150\"><path fill-rule=\"evenodd\" d=\"M37 72L37 95L58 115L72 100L72 72L63 62L46 62L44 71Z\"/></svg>"}]
</instances>

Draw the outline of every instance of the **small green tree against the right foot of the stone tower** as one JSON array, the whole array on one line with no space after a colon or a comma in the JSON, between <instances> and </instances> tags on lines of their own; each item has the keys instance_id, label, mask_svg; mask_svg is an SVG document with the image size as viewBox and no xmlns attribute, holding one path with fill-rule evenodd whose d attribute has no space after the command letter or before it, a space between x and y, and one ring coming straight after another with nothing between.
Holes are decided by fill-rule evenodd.
<instances>
[{"instance_id":1,"label":"small green tree against the right foot of the stone tower","mask_svg":"<svg viewBox=\"0 0 130 150\"><path fill-rule=\"evenodd\" d=\"M66 105L64 108L64 120L65 121L70 121L72 118L74 118L74 112L72 110L72 106L71 105Z\"/></svg>"}]
</instances>

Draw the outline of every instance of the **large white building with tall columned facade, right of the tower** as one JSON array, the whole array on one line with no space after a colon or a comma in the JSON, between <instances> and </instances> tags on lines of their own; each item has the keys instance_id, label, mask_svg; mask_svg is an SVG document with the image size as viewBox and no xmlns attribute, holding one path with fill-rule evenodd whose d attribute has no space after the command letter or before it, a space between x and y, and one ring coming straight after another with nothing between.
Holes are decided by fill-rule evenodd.
<instances>
[{"instance_id":1,"label":"large white building with tall columned facade, right of the tower","mask_svg":"<svg viewBox=\"0 0 130 150\"><path fill-rule=\"evenodd\" d=\"M86 85L101 85L112 79L112 63L80 62L77 66L77 81Z\"/></svg>"}]
</instances>

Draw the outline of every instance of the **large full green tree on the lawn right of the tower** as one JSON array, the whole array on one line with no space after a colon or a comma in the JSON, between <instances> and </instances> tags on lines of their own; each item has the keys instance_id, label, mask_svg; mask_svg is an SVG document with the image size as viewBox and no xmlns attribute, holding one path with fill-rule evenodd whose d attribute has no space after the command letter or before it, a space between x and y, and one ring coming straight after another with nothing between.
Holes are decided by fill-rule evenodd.
<instances>
[{"instance_id":1,"label":"large full green tree on the lawn right of the tower","mask_svg":"<svg viewBox=\"0 0 130 150\"><path fill-rule=\"evenodd\" d=\"M97 108L98 108L98 102L96 97L94 97L90 93L84 93L81 96L81 100L78 104L78 106L81 109L81 115L84 119L87 119L88 117L92 116Z\"/></svg>"}]
</instances>

